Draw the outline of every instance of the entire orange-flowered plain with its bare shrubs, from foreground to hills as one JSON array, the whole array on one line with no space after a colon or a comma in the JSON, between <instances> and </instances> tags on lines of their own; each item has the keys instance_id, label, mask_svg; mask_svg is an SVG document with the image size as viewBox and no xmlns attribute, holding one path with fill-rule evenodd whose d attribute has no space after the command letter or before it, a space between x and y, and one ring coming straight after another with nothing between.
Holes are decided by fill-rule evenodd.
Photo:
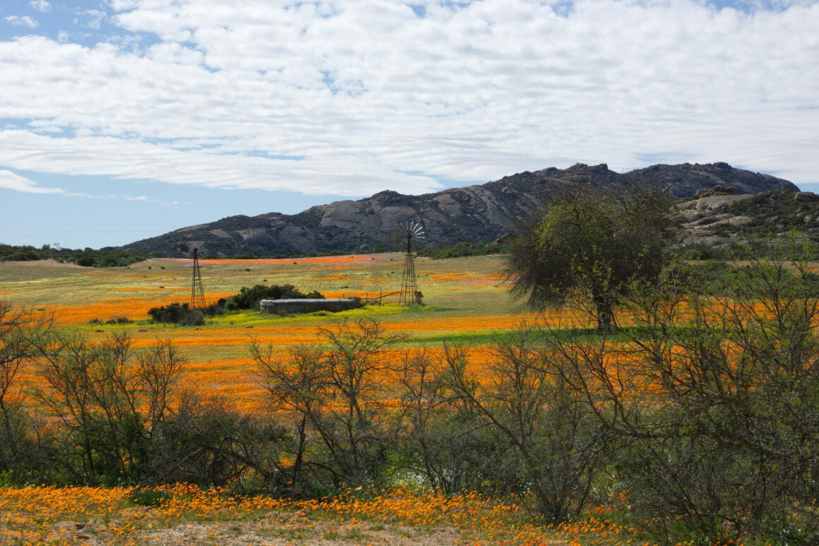
<instances>
[{"instance_id":1,"label":"entire orange-flowered plain with its bare shrubs, from foreground to hills","mask_svg":"<svg viewBox=\"0 0 819 546\"><path fill-rule=\"evenodd\" d=\"M0 263L0 330L38 349L0 370L0 544L819 539L813 270L667 279L600 334L522 312L503 265L419 258L401 307L396 253L202 260L208 303L373 304L179 326L147 312L189 301L189 260Z\"/></svg>"}]
</instances>

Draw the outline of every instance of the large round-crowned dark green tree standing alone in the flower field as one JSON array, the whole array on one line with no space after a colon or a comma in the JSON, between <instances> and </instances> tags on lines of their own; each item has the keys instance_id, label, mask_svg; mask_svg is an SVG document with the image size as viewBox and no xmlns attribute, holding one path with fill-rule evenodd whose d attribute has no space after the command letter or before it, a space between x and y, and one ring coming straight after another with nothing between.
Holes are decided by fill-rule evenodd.
<instances>
[{"instance_id":1,"label":"large round-crowned dark green tree standing alone in the flower field","mask_svg":"<svg viewBox=\"0 0 819 546\"><path fill-rule=\"evenodd\" d=\"M512 293L536 310L590 303L598 330L610 330L631 284L667 265L675 234L670 202L659 191L578 186L554 198L511 243Z\"/></svg>"}]
</instances>

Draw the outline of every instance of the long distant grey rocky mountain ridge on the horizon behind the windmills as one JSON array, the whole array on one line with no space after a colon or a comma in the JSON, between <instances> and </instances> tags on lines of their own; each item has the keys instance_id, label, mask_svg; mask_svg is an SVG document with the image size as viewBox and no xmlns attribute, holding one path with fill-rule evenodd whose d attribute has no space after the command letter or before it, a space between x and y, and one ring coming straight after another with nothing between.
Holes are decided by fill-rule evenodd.
<instances>
[{"instance_id":1,"label":"long distant grey rocky mountain ridge on the horizon behind the windmills","mask_svg":"<svg viewBox=\"0 0 819 546\"><path fill-rule=\"evenodd\" d=\"M270 212L229 216L210 224L192 225L121 247L141 253L185 257L198 248L201 256L285 256L310 253L368 252L389 248L390 234L400 225L423 225L428 244L485 243L514 231L518 222L541 210L550 194L568 184L616 189L640 183L662 189L672 198L693 198L698 191L760 193L799 189L787 180L735 169L727 163L654 165L619 174L605 164L578 163L505 176L495 182L446 189L425 195L376 193L358 201L337 201L295 215Z\"/></svg>"}]
</instances>

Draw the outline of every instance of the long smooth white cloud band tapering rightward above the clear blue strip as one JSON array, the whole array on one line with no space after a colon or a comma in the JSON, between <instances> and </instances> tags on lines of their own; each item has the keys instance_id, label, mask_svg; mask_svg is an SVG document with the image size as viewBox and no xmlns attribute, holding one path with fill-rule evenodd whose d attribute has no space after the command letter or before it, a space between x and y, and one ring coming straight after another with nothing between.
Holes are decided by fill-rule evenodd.
<instances>
[{"instance_id":1,"label":"long smooth white cloud band tapering rightward above the clear blue strip","mask_svg":"<svg viewBox=\"0 0 819 546\"><path fill-rule=\"evenodd\" d=\"M23 130L0 130L0 165L50 174L107 175L123 180L160 180L224 189L267 189L319 195L360 195L384 189L422 193L439 189L433 180L394 175L355 157L323 162L278 160L180 151L134 139L81 136L53 138Z\"/></svg>"}]
</instances>

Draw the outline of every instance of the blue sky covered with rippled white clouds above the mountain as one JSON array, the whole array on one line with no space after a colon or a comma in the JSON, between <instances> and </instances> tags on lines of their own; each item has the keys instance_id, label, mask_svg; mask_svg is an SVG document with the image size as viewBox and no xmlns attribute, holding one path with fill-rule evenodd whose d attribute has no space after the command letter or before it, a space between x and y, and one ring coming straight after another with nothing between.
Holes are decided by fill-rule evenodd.
<instances>
[{"instance_id":1,"label":"blue sky covered with rippled white clouds above the mountain","mask_svg":"<svg viewBox=\"0 0 819 546\"><path fill-rule=\"evenodd\" d=\"M819 0L2 0L0 243L575 163L819 193Z\"/></svg>"}]
</instances>

